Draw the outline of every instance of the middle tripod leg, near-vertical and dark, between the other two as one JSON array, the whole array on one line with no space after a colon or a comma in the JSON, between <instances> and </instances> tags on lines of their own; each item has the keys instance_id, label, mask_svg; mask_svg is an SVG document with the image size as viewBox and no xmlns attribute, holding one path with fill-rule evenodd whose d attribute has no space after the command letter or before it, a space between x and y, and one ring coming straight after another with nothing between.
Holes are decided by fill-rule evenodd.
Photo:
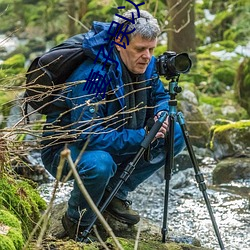
<instances>
[{"instance_id":1,"label":"middle tripod leg, near-vertical and dark, between the other two","mask_svg":"<svg viewBox=\"0 0 250 250\"><path fill-rule=\"evenodd\" d=\"M174 165L174 116L169 115L169 132L166 138L166 162L165 162L165 197L164 197L164 213L163 213L163 225L162 225L162 242L166 242L166 235L168 232L167 220L168 220L168 199L169 199L169 183L172 176L172 169Z\"/></svg>"}]
</instances>

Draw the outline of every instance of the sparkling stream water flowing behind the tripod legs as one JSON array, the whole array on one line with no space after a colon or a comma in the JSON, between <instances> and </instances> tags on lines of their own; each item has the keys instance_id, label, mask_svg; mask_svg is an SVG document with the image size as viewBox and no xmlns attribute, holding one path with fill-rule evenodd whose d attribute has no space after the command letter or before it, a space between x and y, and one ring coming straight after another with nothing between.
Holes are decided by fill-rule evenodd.
<instances>
[{"instance_id":1,"label":"sparkling stream water flowing behind the tripod legs","mask_svg":"<svg viewBox=\"0 0 250 250\"><path fill-rule=\"evenodd\" d=\"M205 178L207 194L226 250L250 250L250 180L212 185L212 158L202 160L200 169ZM162 170L163 171L163 170ZM132 208L142 217L162 228L165 180L162 171L155 173L130 194ZM54 182L39 187L42 197L49 201ZM57 193L55 202L69 198L72 182ZM206 208L202 192L197 187L193 168L178 171L170 180L168 229L177 237L196 238L203 247L219 250L219 243Z\"/></svg>"}]
</instances>

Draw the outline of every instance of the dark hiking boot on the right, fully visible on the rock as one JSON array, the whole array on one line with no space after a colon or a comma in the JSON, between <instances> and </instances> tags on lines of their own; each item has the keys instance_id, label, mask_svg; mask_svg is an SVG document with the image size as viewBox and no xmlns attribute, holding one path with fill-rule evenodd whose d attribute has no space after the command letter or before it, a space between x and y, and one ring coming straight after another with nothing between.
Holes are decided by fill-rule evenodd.
<instances>
[{"instance_id":1,"label":"dark hiking boot on the right, fully visible on the rock","mask_svg":"<svg viewBox=\"0 0 250 250\"><path fill-rule=\"evenodd\" d=\"M122 223L134 225L140 221L140 216L130 208L131 205L132 201L114 197L105 211Z\"/></svg>"}]
</instances>

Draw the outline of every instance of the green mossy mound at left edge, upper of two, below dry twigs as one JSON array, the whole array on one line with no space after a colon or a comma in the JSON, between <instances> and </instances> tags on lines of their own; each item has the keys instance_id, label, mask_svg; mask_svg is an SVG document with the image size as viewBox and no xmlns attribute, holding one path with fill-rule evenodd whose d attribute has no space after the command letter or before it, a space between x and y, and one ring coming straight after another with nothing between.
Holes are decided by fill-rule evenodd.
<instances>
[{"instance_id":1,"label":"green mossy mound at left edge, upper of two, below dry twigs","mask_svg":"<svg viewBox=\"0 0 250 250\"><path fill-rule=\"evenodd\" d=\"M0 207L5 207L21 221L24 238L28 237L41 211L46 208L46 202L30 183L5 174L0 178Z\"/></svg>"}]
</instances>

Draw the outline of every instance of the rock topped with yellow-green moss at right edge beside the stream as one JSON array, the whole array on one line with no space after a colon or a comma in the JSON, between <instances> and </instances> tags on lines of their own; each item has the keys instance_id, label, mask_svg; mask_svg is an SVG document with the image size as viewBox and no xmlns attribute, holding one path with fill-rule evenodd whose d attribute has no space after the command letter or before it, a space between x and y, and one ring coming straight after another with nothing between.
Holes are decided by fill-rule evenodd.
<instances>
[{"instance_id":1,"label":"rock topped with yellow-green moss at right edge beside the stream","mask_svg":"<svg viewBox=\"0 0 250 250\"><path fill-rule=\"evenodd\" d=\"M250 120L214 125L210 130L210 149L215 159L230 156L250 156Z\"/></svg>"}]
</instances>

